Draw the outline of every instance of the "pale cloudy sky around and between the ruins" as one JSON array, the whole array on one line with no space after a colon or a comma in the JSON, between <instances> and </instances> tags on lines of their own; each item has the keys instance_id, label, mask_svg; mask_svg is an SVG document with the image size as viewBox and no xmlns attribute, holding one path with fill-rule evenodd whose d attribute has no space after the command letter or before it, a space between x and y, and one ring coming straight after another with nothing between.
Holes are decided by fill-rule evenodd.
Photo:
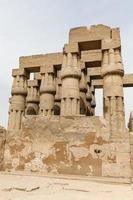
<instances>
[{"instance_id":1,"label":"pale cloudy sky around and between the ruins","mask_svg":"<svg viewBox=\"0 0 133 200\"><path fill-rule=\"evenodd\" d=\"M0 0L1 125L7 125L11 70L18 67L19 57L62 51L70 28L92 24L120 27L125 73L133 73L132 0ZM124 92L128 119L133 88ZM100 93L97 114L102 110Z\"/></svg>"}]
</instances>

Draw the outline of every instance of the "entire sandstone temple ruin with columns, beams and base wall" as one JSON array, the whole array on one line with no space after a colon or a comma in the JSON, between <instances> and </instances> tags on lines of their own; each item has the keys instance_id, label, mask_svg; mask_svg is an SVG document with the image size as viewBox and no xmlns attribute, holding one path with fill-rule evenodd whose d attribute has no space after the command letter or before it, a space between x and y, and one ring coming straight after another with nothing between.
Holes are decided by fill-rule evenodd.
<instances>
[{"instance_id":1,"label":"entire sandstone temple ruin with columns, beams and base wall","mask_svg":"<svg viewBox=\"0 0 133 200\"><path fill-rule=\"evenodd\" d=\"M120 31L71 29L59 53L20 57L13 69L3 170L132 177L133 114L125 125ZM103 116L95 90L103 88Z\"/></svg>"}]
</instances>

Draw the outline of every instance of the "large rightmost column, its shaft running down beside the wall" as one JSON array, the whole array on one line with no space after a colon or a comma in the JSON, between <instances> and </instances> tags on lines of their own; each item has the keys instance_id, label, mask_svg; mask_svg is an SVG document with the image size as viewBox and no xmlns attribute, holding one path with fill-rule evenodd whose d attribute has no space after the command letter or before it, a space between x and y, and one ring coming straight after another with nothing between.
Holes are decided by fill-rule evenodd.
<instances>
[{"instance_id":1,"label":"large rightmost column, its shaft running down beside the wall","mask_svg":"<svg viewBox=\"0 0 133 200\"><path fill-rule=\"evenodd\" d=\"M125 130L122 82L124 70L120 48L103 51L101 73L103 76L104 116L109 122L113 139Z\"/></svg>"}]
</instances>

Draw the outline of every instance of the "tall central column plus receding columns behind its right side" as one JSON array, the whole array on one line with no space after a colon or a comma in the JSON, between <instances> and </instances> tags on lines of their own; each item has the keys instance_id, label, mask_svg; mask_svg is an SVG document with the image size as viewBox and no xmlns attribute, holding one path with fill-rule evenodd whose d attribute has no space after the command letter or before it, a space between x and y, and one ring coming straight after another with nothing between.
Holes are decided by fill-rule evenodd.
<instances>
[{"instance_id":1,"label":"tall central column plus receding columns behind its right side","mask_svg":"<svg viewBox=\"0 0 133 200\"><path fill-rule=\"evenodd\" d=\"M78 44L64 47L61 69L61 115L94 115L95 89L80 61Z\"/></svg>"}]
</instances>

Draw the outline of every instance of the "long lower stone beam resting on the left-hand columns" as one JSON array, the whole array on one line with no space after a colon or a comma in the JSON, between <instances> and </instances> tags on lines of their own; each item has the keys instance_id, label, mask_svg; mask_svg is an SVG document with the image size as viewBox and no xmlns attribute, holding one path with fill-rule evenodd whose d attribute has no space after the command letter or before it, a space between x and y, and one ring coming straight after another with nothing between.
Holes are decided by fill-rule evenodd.
<instances>
[{"instance_id":1,"label":"long lower stone beam resting on the left-hand columns","mask_svg":"<svg viewBox=\"0 0 133 200\"><path fill-rule=\"evenodd\" d=\"M44 65L60 65L62 64L63 54L49 53L32 56L23 56L19 58L20 68L27 68L29 71L38 71L38 67Z\"/></svg>"}]
</instances>

